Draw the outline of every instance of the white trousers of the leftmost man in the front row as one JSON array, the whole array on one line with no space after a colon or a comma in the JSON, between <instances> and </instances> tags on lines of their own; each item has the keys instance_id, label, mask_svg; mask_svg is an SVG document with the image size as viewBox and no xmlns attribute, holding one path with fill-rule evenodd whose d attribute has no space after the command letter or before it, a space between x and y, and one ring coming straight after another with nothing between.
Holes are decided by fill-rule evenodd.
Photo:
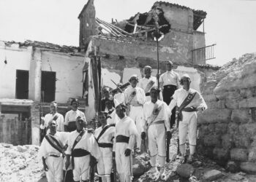
<instances>
[{"instance_id":1,"label":"white trousers of the leftmost man in the front row","mask_svg":"<svg viewBox=\"0 0 256 182\"><path fill-rule=\"evenodd\" d=\"M46 157L46 165L48 171L46 172L46 178L48 182L62 182L63 181L63 158L62 157Z\"/></svg>"}]
</instances>

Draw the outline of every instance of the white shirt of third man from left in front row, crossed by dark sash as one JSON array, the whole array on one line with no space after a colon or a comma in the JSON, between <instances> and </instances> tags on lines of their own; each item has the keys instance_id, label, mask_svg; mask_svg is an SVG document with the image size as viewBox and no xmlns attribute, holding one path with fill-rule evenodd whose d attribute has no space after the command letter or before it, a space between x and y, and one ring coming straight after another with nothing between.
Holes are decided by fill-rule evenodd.
<instances>
[{"instance_id":1,"label":"white shirt of third man from left in front row, crossed by dark sash","mask_svg":"<svg viewBox=\"0 0 256 182\"><path fill-rule=\"evenodd\" d=\"M107 127L107 126L108 126L108 124L105 125L105 127ZM95 138L98 138L99 133L102 132L102 130L103 130L102 127L98 127L94 131ZM107 130L105 130L103 135L100 136L98 143L113 143L113 138L115 136L115 131L116 131L115 127L109 127Z\"/></svg>"}]
</instances>

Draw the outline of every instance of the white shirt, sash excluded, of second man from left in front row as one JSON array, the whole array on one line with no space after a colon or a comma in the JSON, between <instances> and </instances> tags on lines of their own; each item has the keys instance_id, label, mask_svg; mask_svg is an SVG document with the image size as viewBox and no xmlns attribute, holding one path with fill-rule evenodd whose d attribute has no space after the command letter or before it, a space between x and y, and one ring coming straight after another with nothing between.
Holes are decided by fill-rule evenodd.
<instances>
[{"instance_id":1,"label":"white shirt, sash excluded, of second man from left in front row","mask_svg":"<svg viewBox=\"0 0 256 182\"><path fill-rule=\"evenodd\" d=\"M80 132L78 132L77 130L70 132L66 154L71 154L73 144L75 143L75 139L78 137L79 134ZM94 135L87 131L83 134L82 138L76 144L74 149L83 149L89 151L91 155L94 156L96 159L99 159L100 157L100 151L97 141L95 140Z\"/></svg>"}]
</instances>

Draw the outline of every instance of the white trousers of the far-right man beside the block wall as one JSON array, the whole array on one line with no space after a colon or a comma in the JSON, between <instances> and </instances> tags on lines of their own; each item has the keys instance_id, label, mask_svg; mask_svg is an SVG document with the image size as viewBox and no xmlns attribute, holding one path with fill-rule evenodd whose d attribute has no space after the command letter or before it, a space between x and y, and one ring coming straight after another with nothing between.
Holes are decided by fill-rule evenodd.
<instances>
[{"instance_id":1,"label":"white trousers of the far-right man beside the block wall","mask_svg":"<svg viewBox=\"0 0 256 182\"><path fill-rule=\"evenodd\" d=\"M182 115L183 120L178 124L179 144L185 144L188 135L189 145L195 146L197 142L197 113L182 111Z\"/></svg>"}]
</instances>

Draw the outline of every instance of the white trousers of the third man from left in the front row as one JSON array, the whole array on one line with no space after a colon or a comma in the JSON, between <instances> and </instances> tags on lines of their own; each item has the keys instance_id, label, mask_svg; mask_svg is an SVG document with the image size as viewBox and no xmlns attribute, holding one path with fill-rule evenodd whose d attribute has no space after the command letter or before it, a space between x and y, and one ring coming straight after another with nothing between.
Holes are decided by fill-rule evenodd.
<instances>
[{"instance_id":1,"label":"white trousers of the third man from left in the front row","mask_svg":"<svg viewBox=\"0 0 256 182\"><path fill-rule=\"evenodd\" d=\"M99 147L99 150L102 154L97 163L99 176L110 176L113 166L112 149Z\"/></svg>"}]
</instances>

